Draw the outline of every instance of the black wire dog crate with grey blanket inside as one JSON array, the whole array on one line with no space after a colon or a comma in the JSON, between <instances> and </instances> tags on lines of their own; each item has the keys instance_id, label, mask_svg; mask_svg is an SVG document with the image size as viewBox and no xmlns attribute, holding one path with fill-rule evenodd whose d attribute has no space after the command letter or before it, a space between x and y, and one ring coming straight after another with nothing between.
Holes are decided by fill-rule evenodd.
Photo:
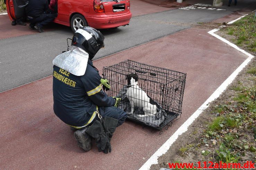
<instances>
[{"instance_id":1,"label":"black wire dog crate with grey blanket inside","mask_svg":"<svg viewBox=\"0 0 256 170\"><path fill-rule=\"evenodd\" d=\"M146 111L141 107L134 107L133 113L130 113L131 103L129 99L135 99L126 96L126 91L129 88L126 78L131 73L138 75L139 88L154 101L156 106L152 108L157 108L155 113L149 113L148 116L145 116ZM185 73L126 60L113 66L104 67L103 76L111 84L111 89L106 93L108 96L117 96L122 99L119 108L129 113L128 119L162 130L182 114ZM143 100L143 98L137 100Z\"/></svg>"}]
</instances>

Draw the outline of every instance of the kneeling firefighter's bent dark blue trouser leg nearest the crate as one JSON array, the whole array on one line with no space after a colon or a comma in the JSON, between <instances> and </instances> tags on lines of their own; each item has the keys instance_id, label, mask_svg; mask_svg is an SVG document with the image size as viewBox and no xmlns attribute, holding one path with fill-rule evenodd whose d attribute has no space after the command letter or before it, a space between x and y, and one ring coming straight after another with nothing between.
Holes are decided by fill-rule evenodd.
<instances>
[{"instance_id":1,"label":"kneeling firefighter's bent dark blue trouser leg nearest the crate","mask_svg":"<svg viewBox=\"0 0 256 170\"><path fill-rule=\"evenodd\" d=\"M114 106L111 107L99 107L100 115L104 117L115 118L118 120L117 127L124 123L127 113L122 109L116 108Z\"/></svg>"}]
</instances>

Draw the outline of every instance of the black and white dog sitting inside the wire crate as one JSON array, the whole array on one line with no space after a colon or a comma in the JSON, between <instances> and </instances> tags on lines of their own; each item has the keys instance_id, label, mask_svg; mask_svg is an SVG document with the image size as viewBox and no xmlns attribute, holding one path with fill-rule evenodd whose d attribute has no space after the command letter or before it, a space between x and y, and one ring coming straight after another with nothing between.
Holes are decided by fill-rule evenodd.
<instances>
[{"instance_id":1,"label":"black and white dog sitting inside the wire crate","mask_svg":"<svg viewBox=\"0 0 256 170\"><path fill-rule=\"evenodd\" d=\"M153 101L139 86L138 86L138 75L136 73L131 73L126 76L127 79L127 92L126 97L129 99L131 104L131 113L133 113L134 108L143 109L144 115L139 115L139 117L148 116L148 114L155 114L157 112L157 106L155 101ZM130 114L131 114L130 113Z\"/></svg>"}]
</instances>

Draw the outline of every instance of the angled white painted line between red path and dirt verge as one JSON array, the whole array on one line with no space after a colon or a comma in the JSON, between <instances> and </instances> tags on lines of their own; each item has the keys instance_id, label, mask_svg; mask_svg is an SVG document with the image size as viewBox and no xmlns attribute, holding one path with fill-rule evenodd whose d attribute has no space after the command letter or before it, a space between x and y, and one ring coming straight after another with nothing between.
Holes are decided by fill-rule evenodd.
<instances>
[{"instance_id":1,"label":"angled white painted line between red path and dirt verge","mask_svg":"<svg viewBox=\"0 0 256 170\"><path fill-rule=\"evenodd\" d=\"M242 16L245 17L245 16ZM240 17L240 18L242 18ZM237 20L237 19L236 19ZM231 23L233 23L231 21ZM208 33L212 36L220 39L221 41L229 44L231 47L241 51L242 53L246 54L248 58L218 87L217 90L213 92L213 94L198 108L183 124L180 126L177 131L143 164L143 166L139 170L148 170L150 169L152 164L158 163L158 158L165 154L170 146L176 141L176 139L187 131L189 125L193 123L193 121L206 109L208 108L208 104L218 98L220 94L228 87L228 85L236 78L238 73L250 62L250 60L254 57L250 53L246 52L245 50L240 49L235 44L227 41L226 39L214 34L214 32L218 31L219 29L213 29Z\"/></svg>"}]
</instances>

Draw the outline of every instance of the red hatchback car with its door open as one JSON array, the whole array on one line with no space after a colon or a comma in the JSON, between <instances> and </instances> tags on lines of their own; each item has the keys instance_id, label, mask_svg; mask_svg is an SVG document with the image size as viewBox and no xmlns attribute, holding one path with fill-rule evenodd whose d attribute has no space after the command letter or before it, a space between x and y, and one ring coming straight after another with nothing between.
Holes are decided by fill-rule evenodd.
<instances>
[{"instance_id":1,"label":"red hatchback car with its door open","mask_svg":"<svg viewBox=\"0 0 256 170\"><path fill-rule=\"evenodd\" d=\"M11 20L22 17L28 3L18 6L17 1L6 1ZM83 26L96 29L126 26L131 17L130 0L58 0L58 17L53 22L69 26L75 32Z\"/></svg>"}]
</instances>

